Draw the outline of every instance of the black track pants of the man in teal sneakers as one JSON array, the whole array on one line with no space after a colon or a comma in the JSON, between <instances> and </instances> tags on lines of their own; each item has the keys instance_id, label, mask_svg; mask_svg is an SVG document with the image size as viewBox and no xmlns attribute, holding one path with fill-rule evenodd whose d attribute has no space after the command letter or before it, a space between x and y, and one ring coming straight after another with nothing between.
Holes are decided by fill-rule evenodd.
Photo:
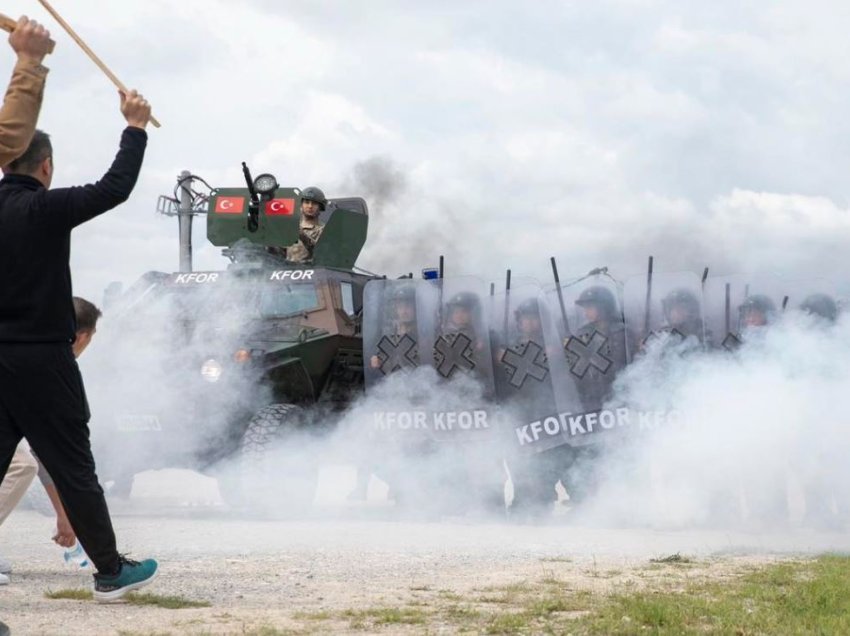
<instances>
[{"instance_id":1,"label":"black track pants of the man in teal sneakers","mask_svg":"<svg viewBox=\"0 0 850 636\"><path fill-rule=\"evenodd\" d=\"M89 408L69 344L0 343L0 475L21 437L47 472L99 572L118 569L115 533L97 481Z\"/></svg>"}]
</instances>

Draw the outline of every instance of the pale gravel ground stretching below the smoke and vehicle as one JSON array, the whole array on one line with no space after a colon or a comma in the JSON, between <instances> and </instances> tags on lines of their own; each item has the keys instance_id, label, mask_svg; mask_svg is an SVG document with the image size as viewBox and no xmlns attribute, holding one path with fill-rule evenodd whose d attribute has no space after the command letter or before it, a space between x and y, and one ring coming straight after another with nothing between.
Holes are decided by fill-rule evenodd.
<instances>
[{"instance_id":1,"label":"pale gravel ground stretching below the smoke and vehicle","mask_svg":"<svg viewBox=\"0 0 850 636\"><path fill-rule=\"evenodd\" d=\"M299 611L396 607L417 591L464 594L539 578L557 569L572 583L600 585L680 552L713 563L766 561L801 553L850 550L846 534L784 534L606 529L446 520L392 520L380 502L327 504L306 521L241 520L215 501L202 478L157 490L137 479L133 498L113 506L120 547L160 560L157 594L208 601L206 609L166 610L126 604L48 600L44 593L89 586L90 575L66 568L49 542L52 519L17 511L0 530L0 553L14 563L0 587L0 618L13 634L252 633L263 626L298 627ZM161 481L161 476L160 478ZM327 503L327 502L326 502ZM604 585L616 583L604 578ZM418 597L421 600L421 595Z\"/></svg>"}]
</instances>

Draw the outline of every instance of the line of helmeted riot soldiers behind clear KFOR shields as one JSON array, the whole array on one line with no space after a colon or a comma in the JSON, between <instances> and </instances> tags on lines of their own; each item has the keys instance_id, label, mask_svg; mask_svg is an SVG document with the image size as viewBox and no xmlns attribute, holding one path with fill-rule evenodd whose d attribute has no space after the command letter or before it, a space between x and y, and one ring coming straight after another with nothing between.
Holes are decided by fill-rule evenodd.
<instances>
[{"instance_id":1,"label":"line of helmeted riot soldiers behind clear KFOR shields","mask_svg":"<svg viewBox=\"0 0 850 636\"><path fill-rule=\"evenodd\" d=\"M559 480L581 502L606 442L683 423L672 408L624 403L616 380L629 365L651 350L733 355L787 312L825 324L839 314L826 281L700 278L651 267L625 282L604 268L566 282L556 271L555 278L546 288L524 280L499 291L472 277L368 283L367 395L408 383L404 399L375 401L375 443L393 453L451 448L454 457L486 448L508 464L514 506L545 509ZM411 392L410 382L421 392Z\"/></svg>"}]
</instances>

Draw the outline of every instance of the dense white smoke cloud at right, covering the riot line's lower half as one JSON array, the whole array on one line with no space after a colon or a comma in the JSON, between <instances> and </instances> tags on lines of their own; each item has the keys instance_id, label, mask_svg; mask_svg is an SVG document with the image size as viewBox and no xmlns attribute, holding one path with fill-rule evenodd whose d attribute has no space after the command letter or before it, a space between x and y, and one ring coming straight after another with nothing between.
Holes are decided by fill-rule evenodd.
<instances>
[{"instance_id":1,"label":"dense white smoke cloud at right, covering the riot line's lower half","mask_svg":"<svg viewBox=\"0 0 850 636\"><path fill-rule=\"evenodd\" d=\"M679 424L623 441L595 468L584 520L783 529L846 523L850 321L789 313L734 354L650 350L618 398ZM840 516L839 516L840 515Z\"/></svg>"}]
</instances>

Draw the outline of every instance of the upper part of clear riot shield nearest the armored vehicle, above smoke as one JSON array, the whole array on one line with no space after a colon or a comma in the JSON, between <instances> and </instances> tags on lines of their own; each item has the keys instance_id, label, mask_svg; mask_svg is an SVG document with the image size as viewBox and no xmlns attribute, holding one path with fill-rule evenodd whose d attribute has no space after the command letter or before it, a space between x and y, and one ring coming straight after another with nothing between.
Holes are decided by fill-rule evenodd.
<instances>
[{"instance_id":1,"label":"upper part of clear riot shield nearest the armored vehicle, above smoke","mask_svg":"<svg viewBox=\"0 0 850 636\"><path fill-rule=\"evenodd\" d=\"M433 298L429 298L429 296ZM363 291L366 387L430 365L436 290L412 279L372 280Z\"/></svg>"}]
</instances>

